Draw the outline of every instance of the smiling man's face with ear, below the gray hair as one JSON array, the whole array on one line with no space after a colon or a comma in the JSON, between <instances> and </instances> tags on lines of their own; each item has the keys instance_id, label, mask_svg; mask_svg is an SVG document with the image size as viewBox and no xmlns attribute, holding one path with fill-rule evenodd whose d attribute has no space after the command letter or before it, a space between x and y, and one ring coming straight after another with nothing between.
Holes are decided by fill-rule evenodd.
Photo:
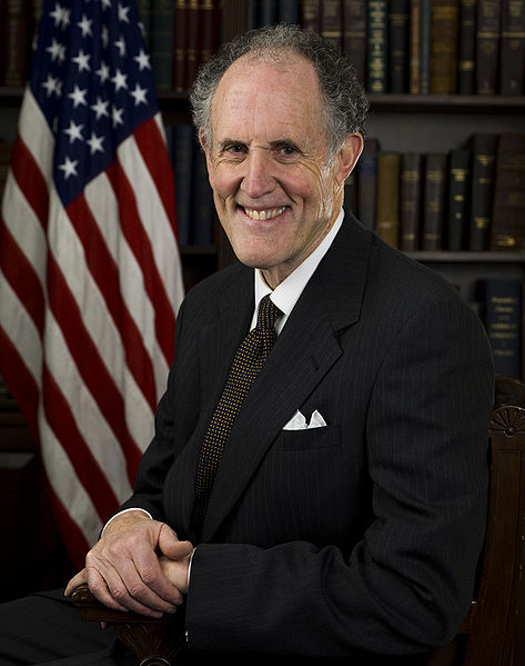
<instances>
[{"instance_id":1,"label":"smiling man's face with ear, below the gray hair","mask_svg":"<svg viewBox=\"0 0 525 666\"><path fill-rule=\"evenodd\" d=\"M317 76L293 56L235 61L213 98L212 132L204 149L221 223L238 258L275 288L335 221L362 138L327 163Z\"/></svg>"}]
</instances>

